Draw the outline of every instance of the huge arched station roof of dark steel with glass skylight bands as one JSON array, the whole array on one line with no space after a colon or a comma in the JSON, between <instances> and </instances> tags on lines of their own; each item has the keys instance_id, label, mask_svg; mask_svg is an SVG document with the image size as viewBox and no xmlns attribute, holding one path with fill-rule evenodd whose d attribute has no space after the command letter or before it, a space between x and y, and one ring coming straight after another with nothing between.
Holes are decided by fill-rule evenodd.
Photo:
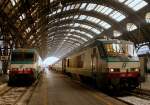
<instances>
[{"instance_id":1,"label":"huge arched station roof of dark steel with glass skylight bands","mask_svg":"<svg viewBox=\"0 0 150 105\"><path fill-rule=\"evenodd\" d=\"M64 57L97 38L150 47L150 0L0 0L0 32L10 48Z\"/></svg>"}]
</instances>

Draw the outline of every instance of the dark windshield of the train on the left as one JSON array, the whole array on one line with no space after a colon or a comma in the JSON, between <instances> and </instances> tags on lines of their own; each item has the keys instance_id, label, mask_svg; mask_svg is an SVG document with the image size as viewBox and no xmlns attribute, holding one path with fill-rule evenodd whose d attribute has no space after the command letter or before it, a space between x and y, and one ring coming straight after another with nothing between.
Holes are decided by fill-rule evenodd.
<instances>
[{"instance_id":1,"label":"dark windshield of the train on the left","mask_svg":"<svg viewBox=\"0 0 150 105\"><path fill-rule=\"evenodd\" d=\"M13 52L11 56L12 62L33 62L34 54L31 52Z\"/></svg>"}]
</instances>

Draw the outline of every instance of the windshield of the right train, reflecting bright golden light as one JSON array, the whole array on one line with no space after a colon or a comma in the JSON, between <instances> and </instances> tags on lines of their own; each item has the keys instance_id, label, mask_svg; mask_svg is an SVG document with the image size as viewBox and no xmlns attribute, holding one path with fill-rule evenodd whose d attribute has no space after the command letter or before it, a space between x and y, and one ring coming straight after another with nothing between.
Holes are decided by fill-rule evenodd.
<instances>
[{"instance_id":1,"label":"windshield of the right train, reflecting bright golden light","mask_svg":"<svg viewBox=\"0 0 150 105\"><path fill-rule=\"evenodd\" d=\"M128 57L137 57L132 43L105 43L104 46L108 56L123 55Z\"/></svg>"}]
</instances>

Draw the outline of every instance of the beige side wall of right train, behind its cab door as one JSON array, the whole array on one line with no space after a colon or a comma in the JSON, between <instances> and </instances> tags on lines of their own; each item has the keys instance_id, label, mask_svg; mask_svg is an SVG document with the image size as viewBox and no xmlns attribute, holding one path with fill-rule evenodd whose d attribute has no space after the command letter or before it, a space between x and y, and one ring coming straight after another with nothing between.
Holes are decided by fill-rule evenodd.
<instances>
[{"instance_id":1,"label":"beige side wall of right train, behind its cab door","mask_svg":"<svg viewBox=\"0 0 150 105\"><path fill-rule=\"evenodd\" d=\"M90 76L91 70L90 50L74 54L67 58L66 72L72 74Z\"/></svg>"}]
</instances>

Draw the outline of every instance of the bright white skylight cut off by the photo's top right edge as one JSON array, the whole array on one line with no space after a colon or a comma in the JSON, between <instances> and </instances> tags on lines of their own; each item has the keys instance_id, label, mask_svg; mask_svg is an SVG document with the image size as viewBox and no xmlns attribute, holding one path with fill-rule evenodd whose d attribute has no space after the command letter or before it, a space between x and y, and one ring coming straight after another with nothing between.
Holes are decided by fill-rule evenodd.
<instances>
[{"instance_id":1,"label":"bright white skylight cut off by the photo's top right edge","mask_svg":"<svg viewBox=\"0 0 150 105\"><path fill-rule=\"evenodd\" d=\"M124 4L134 11L138 11L148 5L144 0L127 0Z\"/></svg>"}]
</instances>

